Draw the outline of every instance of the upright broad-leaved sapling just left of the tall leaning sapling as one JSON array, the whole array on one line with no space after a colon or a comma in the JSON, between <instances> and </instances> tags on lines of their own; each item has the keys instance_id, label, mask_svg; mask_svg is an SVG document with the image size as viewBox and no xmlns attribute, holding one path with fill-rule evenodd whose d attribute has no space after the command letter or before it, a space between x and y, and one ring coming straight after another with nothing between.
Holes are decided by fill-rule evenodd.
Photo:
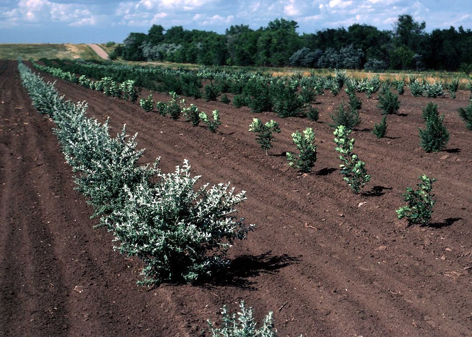
<instances>
[{"instance_id":1,"label":"upright broad-leaved sapling just left of the tall leaning sapling","mask_svg":"<svg viewBox=\"0 0 472 337\"><path fill-rule=\"evenodd\" d=\"M311 168L316 162L316 146L313 144L315 133L313 129L306 128L305 131L303 131L303 135L299 131L295 131L292 134L292 139L299 154L298 158L296 158L291 152L287 153L288 165L303 173L311 171Z\"/></svg>"}]
</instances>

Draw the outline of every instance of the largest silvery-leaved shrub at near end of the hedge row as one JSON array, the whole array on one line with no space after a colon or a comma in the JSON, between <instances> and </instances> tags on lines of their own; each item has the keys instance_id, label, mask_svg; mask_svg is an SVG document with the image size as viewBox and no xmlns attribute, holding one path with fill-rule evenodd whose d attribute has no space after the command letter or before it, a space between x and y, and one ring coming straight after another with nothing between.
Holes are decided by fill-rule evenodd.
<instances>
[{"instance_id":1,"label":"largest silvery-leaved shrub at near end of the hedge row","mask_svg":"<svg viewBox=\"0 0 472 337\"><path fill-rule=\"evenodd\" d=\"M196 189L200 176L190 176L187 161L157 177L151 186L125 186L128 198L112 217L116 248L145 263L140 283L191 282L228 266L228 248L254 228L235 216L245 192L235 194L229 184Z\"/></svg>"}]
</instances>

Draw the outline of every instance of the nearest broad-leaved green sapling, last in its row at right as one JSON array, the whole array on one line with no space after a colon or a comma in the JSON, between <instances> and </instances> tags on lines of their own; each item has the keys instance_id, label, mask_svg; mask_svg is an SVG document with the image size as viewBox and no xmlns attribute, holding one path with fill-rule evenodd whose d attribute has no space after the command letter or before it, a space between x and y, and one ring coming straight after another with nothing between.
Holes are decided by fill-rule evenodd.
<instances>
[{"instance_id":1,"label":"nearest broad-leaved green sapling, last in its row at right","mask_svg":"<svg viewBox=\"0 0 472 337\"><path fill-rule=\"evenodd\" d=\"M408 225L413 224L428 224L431 220L431 214L433 214L433 206L436 200L433 199L433 182L436 179L431 179L423 174L419 177L421 183L416 184L419 187L418 190L413 191L411 187L406 188L406 193L402 194L405 197L406 206L397 209L399 219L406 218Z\"/></svg>"}]
</instances>

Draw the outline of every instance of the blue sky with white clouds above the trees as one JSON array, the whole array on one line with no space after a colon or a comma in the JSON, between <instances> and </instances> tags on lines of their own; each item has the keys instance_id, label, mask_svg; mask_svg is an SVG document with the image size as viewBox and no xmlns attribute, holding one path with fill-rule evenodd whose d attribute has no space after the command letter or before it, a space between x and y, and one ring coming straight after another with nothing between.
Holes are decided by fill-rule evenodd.
<instances>
[{"instance_id":1,"label":"blue sky with white clouds above the trees","mask_svg":"<svg viewBox=\"0 0 472 337\"><path fill-rule=\"evenodd\" d=\"M295 20L299 33L354 23L392 30L399 15L426 22L426 31L472 29L471 0L1 0L0 43L122 42L153 24L224 33L275 18Z\"/></svg>"}]
</instances>

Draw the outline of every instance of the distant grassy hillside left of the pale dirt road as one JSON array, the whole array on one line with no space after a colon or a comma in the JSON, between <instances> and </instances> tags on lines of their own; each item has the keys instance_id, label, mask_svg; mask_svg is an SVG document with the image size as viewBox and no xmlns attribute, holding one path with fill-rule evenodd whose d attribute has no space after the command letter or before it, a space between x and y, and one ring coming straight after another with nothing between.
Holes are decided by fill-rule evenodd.
<instances>
[{"instance_id":1,"label":"distant grassy hillside left of the pale dirt road","mask_svg":"<svg viewBox=\"0 0 472 337\"><path fill-rule=\"evenodd\" d=\"M16 60L21 57L25 60L33 58L48 59L86 59L100 60L93 50L86 44L6 44L0 43L0 60Z\"/></svg>"}]
</instances>

